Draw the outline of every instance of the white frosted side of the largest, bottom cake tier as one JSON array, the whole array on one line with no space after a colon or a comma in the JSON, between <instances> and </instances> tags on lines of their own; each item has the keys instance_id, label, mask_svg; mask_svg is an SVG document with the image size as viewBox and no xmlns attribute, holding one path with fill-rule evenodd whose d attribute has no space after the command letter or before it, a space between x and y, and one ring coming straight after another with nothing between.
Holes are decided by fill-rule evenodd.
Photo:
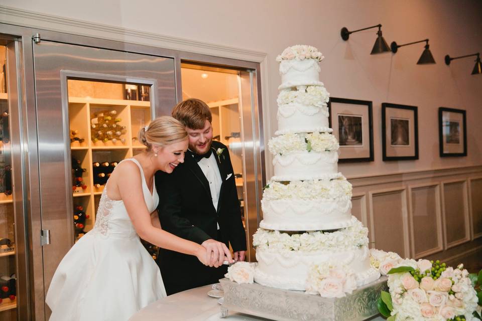
<instances>
[{"instance_id":1,"label":"white frosted side of the largest, bottom cake tier","mask_svg":"<svg viewBox=\"0 0 482 321\"><path fill-rule=\"evenodd\" d=\"M258 248L256 259L258 266L255 282L287 290L305 290L310 266L324 262L337 262L351 268L355 273L357 286L380 277L380 273L370 266L370 252L366 246L354 250L312 253Z\"/></svg>"}]
</instances>

